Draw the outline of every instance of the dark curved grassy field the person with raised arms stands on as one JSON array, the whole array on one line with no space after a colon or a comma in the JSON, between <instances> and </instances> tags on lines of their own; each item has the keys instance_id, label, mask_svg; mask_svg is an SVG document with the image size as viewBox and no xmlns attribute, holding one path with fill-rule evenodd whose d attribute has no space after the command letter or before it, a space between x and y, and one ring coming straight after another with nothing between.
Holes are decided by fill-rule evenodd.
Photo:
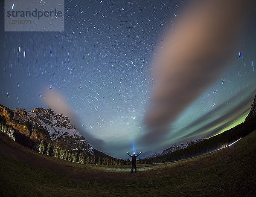
<instances>
[{"instance_id":1,"label":"dark curved grassy field the person with raised arms stands on","mask_svg":"<svg viewBox=\"0 0 256 197\"><path fill-rule=\"evenodd\" d=\"M177 162L92 166L33 152L0 132L0 196L255 196L256 131Z\"/></svg>"}]
</instances>

